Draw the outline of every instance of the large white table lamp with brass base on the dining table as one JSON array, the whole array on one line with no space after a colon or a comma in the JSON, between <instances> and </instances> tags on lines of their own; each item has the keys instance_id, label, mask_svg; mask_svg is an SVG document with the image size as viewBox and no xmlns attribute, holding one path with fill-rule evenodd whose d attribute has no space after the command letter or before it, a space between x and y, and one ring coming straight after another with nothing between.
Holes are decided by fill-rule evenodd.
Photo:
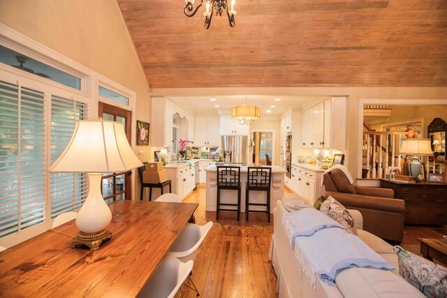
<instances>
[{"instance_id":1,"label":"large white table lamp with brass base on the dining table","mask_svg":"<svg viewBox=\"0 0 447 298\"><path fill-rule=\"evenodd\" d=\"M142 166L133 153L123 125L114 121L78 121L68 146L50 168L50 172L88 173L89 193L76 217L80 233L72 247L84 244L97 249L112 233L105 228L112 213L101 194L103 173L125 172Z\"/></svg>"}]
</instances>

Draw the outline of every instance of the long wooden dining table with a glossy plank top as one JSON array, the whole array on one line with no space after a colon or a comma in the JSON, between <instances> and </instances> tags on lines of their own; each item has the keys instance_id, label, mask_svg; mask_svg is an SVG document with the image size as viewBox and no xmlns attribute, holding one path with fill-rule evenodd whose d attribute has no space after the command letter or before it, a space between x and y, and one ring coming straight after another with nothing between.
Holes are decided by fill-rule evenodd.
<instances>
[{"instance_id":1,"label":"long wooden dining table with a glossy plank top","mask_svg":"<svg viewBox=\"0 0 447 298\"><path fill-rule=\"evenodd\" d=\"M198 204L119 200L113 238L96 251L71 248L75 221L0 253L0 297L135 297Z\"/></svg>"}]
</instances>

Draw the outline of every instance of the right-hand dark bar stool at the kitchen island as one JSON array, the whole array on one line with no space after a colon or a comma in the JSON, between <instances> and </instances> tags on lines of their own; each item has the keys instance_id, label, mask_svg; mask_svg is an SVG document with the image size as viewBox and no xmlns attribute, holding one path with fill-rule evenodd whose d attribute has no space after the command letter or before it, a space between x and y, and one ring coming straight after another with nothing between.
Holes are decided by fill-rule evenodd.
<instances>
[{"instance_id":1,"label":"right-hand dark bar stool at the kitchen island","mask_svg":"<svg viewBox=\"0 0 447 298\"><path fill-rule=\"evenodd\" d=\"M272 184L272 168L271 167L248 167L247 168L247 187L245 188L245 216L249 221L249 212L261 212L268 214L268 222L270 223L270 185ZM249 191L265 191L267 192L267 202L250 203ZM265 206L266 210L250 210L250 206Z\"/></svg>"}]
</instances>

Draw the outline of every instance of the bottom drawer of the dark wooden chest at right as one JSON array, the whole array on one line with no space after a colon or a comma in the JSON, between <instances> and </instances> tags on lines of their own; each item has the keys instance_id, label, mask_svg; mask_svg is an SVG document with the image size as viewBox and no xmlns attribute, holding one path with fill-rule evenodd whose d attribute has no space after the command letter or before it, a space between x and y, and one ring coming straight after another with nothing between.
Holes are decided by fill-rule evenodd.
<instances>
[{"instance_id":1,"label":"bottom drawer of the dark wooden chest at right","mask_svg":"<svg viewBox=\"0 0 447 298\"><path fill-rule=\"evenodd\" d=\"M446 225L447 208L405 207L405 224Z\"/></svg>"}]
</instances>

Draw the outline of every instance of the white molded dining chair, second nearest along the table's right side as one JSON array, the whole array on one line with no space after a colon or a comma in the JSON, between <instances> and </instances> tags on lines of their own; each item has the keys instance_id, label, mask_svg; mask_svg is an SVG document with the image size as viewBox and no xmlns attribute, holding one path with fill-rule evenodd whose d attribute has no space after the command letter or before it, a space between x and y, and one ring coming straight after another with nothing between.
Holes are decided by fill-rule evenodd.
<instances>
[{"instance_id":1,"label":"white molded dining chair, second nearest along the table's right side","mask_svg":"<svg viewBox=\"0 0 447 298\"><path fill-rule=\"evenodd\" d=\"M169 248L169 252L166 255L175 257L182 262L196 261L197 250L202 244L208 232L212 228L212 221L208 221L205 225L196 225L193 223L188 223L183 228L182 232L175 239L174 244ZM191 276L188 276L189 281L193 287L186 285L191 288L199 296L199 292L194 285Z\"/></svg>"}]
</instances>

